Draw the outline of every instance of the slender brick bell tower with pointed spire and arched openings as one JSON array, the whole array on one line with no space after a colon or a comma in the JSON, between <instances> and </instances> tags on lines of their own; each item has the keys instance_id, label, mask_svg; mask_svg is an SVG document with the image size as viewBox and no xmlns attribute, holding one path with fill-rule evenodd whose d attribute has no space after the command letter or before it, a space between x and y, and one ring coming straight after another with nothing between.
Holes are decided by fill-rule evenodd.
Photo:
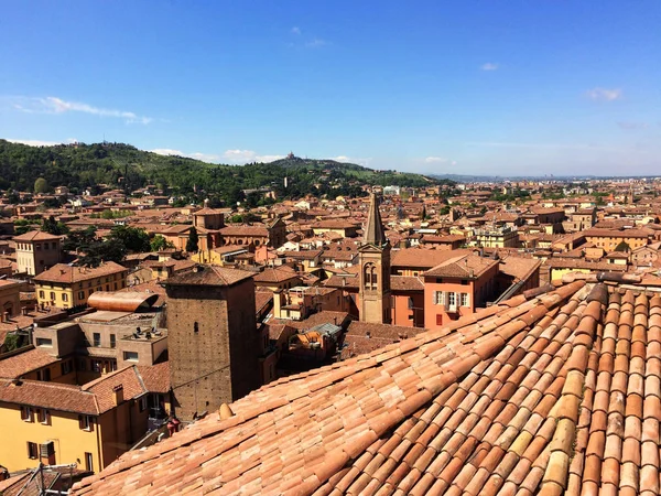
<instances>
[{"instance_id":1,"label":"slender brick bell tower with pointed spire and arched openings","mask_svg":"<svg viewBox=\"0 0 661 496\"><path fill-rule=\"evenodd\" d=\"M369 216L362 245L358 249L360 261L360 321L390 324L390 242L386 239L379 201L370 195Z\"/></svg>"}]
</instances>

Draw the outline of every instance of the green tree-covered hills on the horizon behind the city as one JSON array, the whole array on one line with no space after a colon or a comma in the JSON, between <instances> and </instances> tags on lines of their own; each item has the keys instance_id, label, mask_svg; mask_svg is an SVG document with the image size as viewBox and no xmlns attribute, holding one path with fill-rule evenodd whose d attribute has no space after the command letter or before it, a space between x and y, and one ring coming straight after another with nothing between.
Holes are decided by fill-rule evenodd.
<instances>
[{"instance_id":1,"label":"green tree-covered hills on the horizon behind the city","mask_svg":"<svg viewBox=\"0 0 661 496\"><path fill-rule=\"evenodd\" d=\"M155 184L186 201L209 197L214 204L228 205L245 200L242 190L263 186L283 198L305 194L358 195L364 184L424 186L446 182L332 160L283 159L223 165L159 155L123 143L30 147L0 140L0 190L33 191L40 177L46 180L47 188L66 185L73 193L99 184L127 192Z\"/></svg>"}]
</instances>

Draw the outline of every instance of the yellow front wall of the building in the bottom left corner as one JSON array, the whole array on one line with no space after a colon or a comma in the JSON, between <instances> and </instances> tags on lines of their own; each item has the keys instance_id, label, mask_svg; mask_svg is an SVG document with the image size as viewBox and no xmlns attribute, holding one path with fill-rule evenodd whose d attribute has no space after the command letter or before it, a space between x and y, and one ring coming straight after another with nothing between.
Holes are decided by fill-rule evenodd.
<instances>
[{"instance_id":1,"label":"yellow front wall of the building in the bottom left corner","mask_svg":"<svg viewBox=\"0 0 661 496\"><path fill-rule=\"evenodd\" d=\"M36 411L35 408L33 410ZM98 425L95 424L88 432L80 429L77 413L51 410L50 414L48 425L40 423L36 413L33 414L33 422L26 422L21 419L19 405L0 402L0 425L3 432L0 442L0 465L10 472L33 468L39 465L40 460L28 456L28 442L39 445L53 441L56 464L78 463L84 468L85 453L91 453L94 471L102 468L99 464Z\"/></svg>"}]
</instances>

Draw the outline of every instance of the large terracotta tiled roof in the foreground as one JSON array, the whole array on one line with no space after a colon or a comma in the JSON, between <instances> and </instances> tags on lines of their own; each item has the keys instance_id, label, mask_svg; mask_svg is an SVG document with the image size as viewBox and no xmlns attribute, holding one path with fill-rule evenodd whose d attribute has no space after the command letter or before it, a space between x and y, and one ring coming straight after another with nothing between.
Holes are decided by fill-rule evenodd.
<instances>
[{"instance_id":1,"label":"large terracotta tiled roof in the foreground","mask_svg":"<svg viewBox=\"0 0 661 496\"><path fill-rule=\"evenodd\" d=\"M528 295L279 379L74 493L658 494L661 298Z\"/></svg>"}]
</instances>

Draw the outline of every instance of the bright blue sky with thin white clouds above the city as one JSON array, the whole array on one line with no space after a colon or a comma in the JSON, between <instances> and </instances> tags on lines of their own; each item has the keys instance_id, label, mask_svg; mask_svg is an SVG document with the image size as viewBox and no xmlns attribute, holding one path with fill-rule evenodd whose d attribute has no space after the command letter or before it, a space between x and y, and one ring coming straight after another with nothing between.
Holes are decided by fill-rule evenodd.
<instances>
[{"instance_id":1,"label":"bright blue sky with thin white clouds above the city","mask_svg":"<svg viewBox=\"0 0 661 496\"><path fill-rule=\"evenodd\" d=\"M661 2L2 1L0 138L661 174Z\"/></svg>"}]
</instances>

